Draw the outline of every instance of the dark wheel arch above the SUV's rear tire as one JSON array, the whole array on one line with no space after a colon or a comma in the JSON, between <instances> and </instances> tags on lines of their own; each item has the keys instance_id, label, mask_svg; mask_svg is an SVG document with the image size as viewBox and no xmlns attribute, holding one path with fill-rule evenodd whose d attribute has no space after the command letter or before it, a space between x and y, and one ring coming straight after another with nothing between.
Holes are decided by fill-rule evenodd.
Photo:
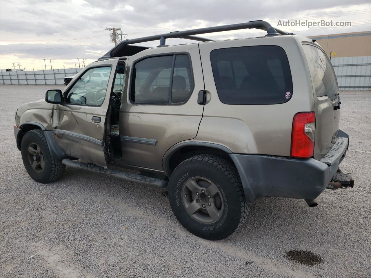
<instances>
[{"instance_id":1,"label":"dark wheel arch above the SUV's rear tire","mask_svg":"<svg viewBox=\"0 0 371 278\"><path fill-rule=\"evenodd\" d=\"M184 160L191 158L195 155L200 155L203 153L209 153L214 155L219 155L225 159L230 160L229 154L232 151L226 146L209 143L209 142L183 142L171 147L164 155L162 160L162 166L166 176L171 176L171 173L174 171L175 167L178 166Z\"/></svg>"}]
</instances>

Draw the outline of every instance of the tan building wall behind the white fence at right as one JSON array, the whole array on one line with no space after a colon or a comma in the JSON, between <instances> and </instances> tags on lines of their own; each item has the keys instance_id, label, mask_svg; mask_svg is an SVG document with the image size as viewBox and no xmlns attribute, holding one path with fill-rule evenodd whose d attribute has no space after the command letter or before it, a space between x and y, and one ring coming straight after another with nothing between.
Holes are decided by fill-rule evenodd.
<instances>
[{"instance_id":1,"label":"tan building wall behind the white fence at right","mask_svg":"<svg viewBox=\"0 0 371 278\"><path fill-rule=\"evenodd\" d=\"M310 36L335 57L371 56L371 31Z\"/></svg>"}]
</instances>

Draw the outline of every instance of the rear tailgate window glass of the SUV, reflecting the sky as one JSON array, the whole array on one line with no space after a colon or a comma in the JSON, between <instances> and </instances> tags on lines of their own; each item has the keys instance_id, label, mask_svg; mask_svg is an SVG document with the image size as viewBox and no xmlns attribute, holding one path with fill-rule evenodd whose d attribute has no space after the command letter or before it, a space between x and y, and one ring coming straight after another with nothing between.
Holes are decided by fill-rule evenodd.
<instances>
[{"instance_id":1,"label":"rear tailgate window glass of the SUV, reflecting the sky","mask_svg":"<svg viewBox=\"0 0 371 278\"><path fill-rule=\"evenodd\" d=\"M316 96L328 96L334 100L338 93L338 83L327 55L318 47L309 44L303 44L303 50Z\"/></svg>"}]
</instances>

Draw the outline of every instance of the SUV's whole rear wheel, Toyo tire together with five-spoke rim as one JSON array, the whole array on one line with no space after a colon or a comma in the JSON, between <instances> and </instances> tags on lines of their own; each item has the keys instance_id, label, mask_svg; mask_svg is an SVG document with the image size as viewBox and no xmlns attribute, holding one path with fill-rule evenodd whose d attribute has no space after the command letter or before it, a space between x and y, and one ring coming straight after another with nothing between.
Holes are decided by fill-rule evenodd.
<instances>
[{"instance_id":1,"label":"SUV's whole rear wheel, Toyo tire together with five-spoke rim","mask_svg":"<svg viewBox=\"0 0 371 278\"><path fill-rule=\"evenodd\" d=\"M205 239L233 234L249 213L237 169L216 155L196 155L180 163L168 194L180 224Z\"/></svg>"}]
</instances>

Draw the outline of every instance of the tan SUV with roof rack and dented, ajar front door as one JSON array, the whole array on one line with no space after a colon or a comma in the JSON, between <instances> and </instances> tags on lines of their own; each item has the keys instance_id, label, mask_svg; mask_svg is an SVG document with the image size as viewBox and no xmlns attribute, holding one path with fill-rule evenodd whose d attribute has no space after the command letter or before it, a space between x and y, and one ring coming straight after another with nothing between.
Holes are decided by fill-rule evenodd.
<instances>
[{"instance_id":1,"label":"tan SUV with roof rack and dented, ajar front door","mask_svg":"<svg viewBox=\"0 0 371 278\"><path fill-rule=\"evenodd\" d=\"M248 28L267 34L195 36ZM167 46L168 38L197 42ZM160 45L133 45L153 40ZM325 188L353 187L338 168L349 140L338 128L340 104L314 40L251 21L125 40L63 91L21 105L14 133L35 181L55 181L67 165L167 186L188 231L222 239L256 198L315 206Z\"/></svg>"}]
</instances>

